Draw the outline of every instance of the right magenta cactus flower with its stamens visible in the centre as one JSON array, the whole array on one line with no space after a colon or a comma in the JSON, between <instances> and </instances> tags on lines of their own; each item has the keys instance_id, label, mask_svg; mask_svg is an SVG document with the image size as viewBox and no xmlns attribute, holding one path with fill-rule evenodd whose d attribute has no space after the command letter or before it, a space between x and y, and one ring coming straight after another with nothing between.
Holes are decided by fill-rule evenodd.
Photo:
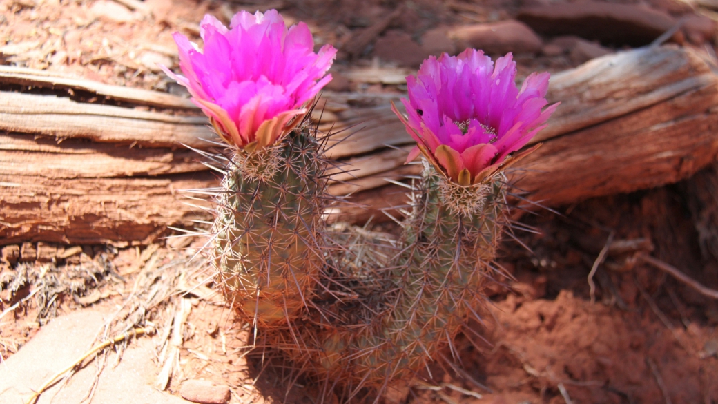
<instances>
[{"instance_id":1,"label":"right magenta cactus flower with its stamens visible in the centre","mask_svg":"<svg viewBox=\"0 0 718 404\"><path fill-rule=\"evenodd\" d=\"M541 111L548 104L549 73L531 73L520 91L515 77L510 53L496 60L495 67L473 49L424 60L416 77L406 78L409 99L401 101L408 121L393 108L416 140L407 162L421 152L460 185L491 178L511 152L546 127L559 105Z\"/></svg>"}]
</instances>

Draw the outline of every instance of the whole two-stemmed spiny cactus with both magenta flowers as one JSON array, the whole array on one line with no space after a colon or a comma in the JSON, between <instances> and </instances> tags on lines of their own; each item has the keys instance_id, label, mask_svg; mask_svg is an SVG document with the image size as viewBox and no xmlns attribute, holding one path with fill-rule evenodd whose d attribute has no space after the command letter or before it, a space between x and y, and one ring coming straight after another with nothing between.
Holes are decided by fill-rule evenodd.
<instances>
[{"instance_id":1,"label":"whole two-stemmed spiny cactus with both magenta flowers","mask_svg":"<svg viewBox=\"0 0 718 404\"><path fill-rule=\"evenodd\" d=\"M202 37L204 53L175 35L185 76L168 74L229 144L212 248L228 303L330 386L415 375L477 316L507 223L503 171L556 109L548 73L519 90L510 55L494 66L466 50L407 78L408 116L393 110L424 172L403 236L387 239L322 220L324 143L302 116L336 51L314 53L306 25L286 29L274 10L241 12L229 30L205 17Z\"/></svg>"}]
</instances>

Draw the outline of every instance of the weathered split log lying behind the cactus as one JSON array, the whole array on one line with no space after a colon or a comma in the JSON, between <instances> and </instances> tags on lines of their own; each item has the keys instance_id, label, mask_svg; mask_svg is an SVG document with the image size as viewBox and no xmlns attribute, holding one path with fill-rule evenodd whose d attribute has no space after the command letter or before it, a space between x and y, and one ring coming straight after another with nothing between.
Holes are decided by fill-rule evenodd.
<instances>
[{"instance_id":1,"label":"weathered split log lying behind the cactus","mask_svg":"<svg viewBox=\"0 0 718 404\"><path fill-rule=\"evenodd\" d=\"M537 139L544 146L513 173L517 187L559 206L689 177L718 153L713 69L694 50L657 47L554 75L549 97L562 104ZM208 216L177 194L216 184L178 144L208 148L202 138L214 137L187 100L29 70L0 70L0 89L0 244L146 243L167 225ZM327 93L320 101L321 129L333 128L335 139L355 132L330 150L353 170L330 191L372 207L342 208L342 219L381 219L378 208L405 201L384 178L418 171L404 165L411 139L392 99Z\"/></svg>"}]
</instances>

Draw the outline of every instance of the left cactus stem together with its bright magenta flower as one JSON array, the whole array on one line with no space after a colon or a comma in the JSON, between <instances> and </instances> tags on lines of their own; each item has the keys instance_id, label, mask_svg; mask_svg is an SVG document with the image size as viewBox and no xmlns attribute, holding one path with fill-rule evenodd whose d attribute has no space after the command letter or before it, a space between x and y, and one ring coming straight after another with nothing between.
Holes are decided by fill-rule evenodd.
<instances>
[{"instance_id":1,"label":"left cactus stem together with its bright magenta flower","mask_svg":"<svg viewBox=\"0 0 718 404\"><path fill-rule=\"evenodd\" d=\"M225 298L245 318L286 324L311 297L323 261L317 230L326 187L319 144L293 129L331 80L336 50L314 53L307 25L287 29L275 10L238 13L230 29L208 15L200 28L204 52L174 34L185 76L165 71L230 147L213 261Z\"/></svg>"}]
</instances>

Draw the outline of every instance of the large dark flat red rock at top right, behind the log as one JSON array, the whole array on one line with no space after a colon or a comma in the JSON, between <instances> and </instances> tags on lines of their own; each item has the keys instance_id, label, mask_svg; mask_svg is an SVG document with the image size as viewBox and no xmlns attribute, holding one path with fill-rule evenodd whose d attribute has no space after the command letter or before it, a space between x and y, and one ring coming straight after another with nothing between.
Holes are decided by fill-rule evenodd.
<instances>
[{"instance_id":1,"label":"large dark flat red rock at top right, behind the log","mask_svg":"<svg viewBox=\"0 0 718 404\"><path fill-rule=\"evenodd\" d=\"M612 45L648 45L676 24L670 14L637 4L587 1L520 9L516 17L542 35L577 35Z\"/></svg>"}]
</instances>

